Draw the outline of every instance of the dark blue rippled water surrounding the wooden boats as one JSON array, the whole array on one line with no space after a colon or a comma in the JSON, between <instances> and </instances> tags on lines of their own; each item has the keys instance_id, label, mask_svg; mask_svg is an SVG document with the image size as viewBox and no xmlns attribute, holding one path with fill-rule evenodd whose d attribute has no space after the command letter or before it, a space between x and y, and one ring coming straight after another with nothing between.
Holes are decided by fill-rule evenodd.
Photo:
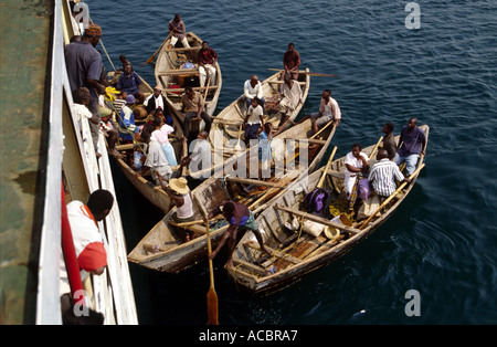
<instances>
[{"instance_id":1,"label":"dark blue rippled water surrounding the wooden boats","mask_svg":"<svg viewBox=\"0 0 497 347\"><path fill-rule=\"evenodd\" d=\"M265 297L237 292L216 259L220 323L497 324L497 2L417 1L421 29L405 27L408 1L87 1L114 64L139 66L182 14L187 30L219 56L218 112L251 74L282 66L288 42L313 77L303 113L317 111L324 88L342 112L337 157L369 145L385 122L394 133L412 116L429 124L426 167L395 214L335 263ZM108 61L106 67L112 69ZM128 250L160 219L115 170ZM130 264L141 324L207 324L205 263L178 275ZM406 316L416 290L421 316Z\"/></svg>"}]
</instances>

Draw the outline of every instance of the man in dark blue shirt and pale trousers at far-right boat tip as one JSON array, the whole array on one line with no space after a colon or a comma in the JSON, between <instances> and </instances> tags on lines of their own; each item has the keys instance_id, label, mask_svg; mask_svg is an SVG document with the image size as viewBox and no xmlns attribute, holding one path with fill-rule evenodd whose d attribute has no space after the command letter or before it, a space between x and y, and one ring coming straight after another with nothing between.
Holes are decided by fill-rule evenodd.
<instances>
[{"instance_id":1,"label":"man in dark blue shirt and pale trousers at far-right boat tip","mask_svg":"<svg viewBox=\"0 0 497 347\"><path fill-rule=\"evenodd\" d=\"M417 118L412 117L409 119L406 126L402 127L399 144L402 144L393 158L396 165L406 162L405 170L408 176L416 169L417 158L420 155L425 154L426 149L426 135L417 127Z\"/></svg>"}]
</instances>

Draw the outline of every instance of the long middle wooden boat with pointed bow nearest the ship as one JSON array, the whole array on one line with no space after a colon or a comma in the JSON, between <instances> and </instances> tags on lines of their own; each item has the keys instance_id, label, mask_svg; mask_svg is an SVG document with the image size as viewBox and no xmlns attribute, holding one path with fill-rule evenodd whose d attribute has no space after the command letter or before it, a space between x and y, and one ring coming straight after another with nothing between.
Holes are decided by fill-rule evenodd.
<instances>
[{"instance_id":1,"label":"long middle wooden boat with pointed bow nearest the ship","mask_svg":"<svg viewBox=\"0 0 497 347\"><path fill-rule=\"evenodd\" d=\"M287 170L283 177L273 178L269 181L261 181L255 179L244 178L219 178L212 176L204 180L197 187L192 193L199 198L208 211L213 210L221 202L225 200L233 200L239 203L247 206L254 214L257 214L268 204L272 199L278 197L286 186L299 177L306 176L310 170L315 169L322 160L331 138L335 134L335 126L327 126L322 128L320 134L324 139L316 139L317 136L311 135L310 120L306 120L298 126L293 127L297 133L285 133L285 136L292 137L295 134L302 136L307 134L307 140L300 141L300 149L296 150L294 155L287 157L287 162L298 161L302 148L308 148L309 143L315 146L308 150L308 158L310 164L305 166L300 162L295 164L293 170ZM292 128L292 129L293 129ZM317 145L317 146L316 146ZM288 168L288 166L287 166ZM248 190L252 187L266 186L266 190ZM255 191L254 191L255 190ZM207 236L204 234L204 225L202 222L202 213L198 206L194 204L195 220L199 223L188 225L189 230L198 232L200 235L191 241L182 241L182 234L178 227L171 228L171 217L176 212L176 207L157 223L148 234L135 246L128 254L128 260L139 265L161 271L161 272L178 272L207 257ZM219 227L219 225L218 225ZM223 232L228 227L218 228L211 224L211 241L215 246Z\"/></svg>"}]
</instances>

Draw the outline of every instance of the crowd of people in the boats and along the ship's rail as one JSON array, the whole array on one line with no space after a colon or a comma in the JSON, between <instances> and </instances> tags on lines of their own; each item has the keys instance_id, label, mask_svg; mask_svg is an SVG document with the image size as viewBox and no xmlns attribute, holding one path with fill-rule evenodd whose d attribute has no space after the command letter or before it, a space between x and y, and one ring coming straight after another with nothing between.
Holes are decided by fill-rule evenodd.
<instances>
[{"instance_id":1,"label":"crowd of people in the boats and along the ship's rail","mask_svg":"<svg viewBox=\"0 0 497 347\"><path fill-rule=\"evenodd\" d=\"M169 22L169 31L172 45L180 42L184 48L189 48L186 25L180 14L176 14ZM126 56L120 55L121 73L116 87L109 92L102 53L95 49L101 36L101 27L91 23L82 36L73 38L72 42L65 46L65 62L75 112L80 119L88 119L95 155L97 158L102 156L98 153L98 150L102 150L102 148L98 148L101 132L107 137L109 153L118 158L121 158L123 155L116 149L116 145L118 143L130 145L125 150L128 165L135 168L139 167L142 176L149 172L154 183L160 186L170 196L177 206L177 212L173 215L176 222L191 221L194 218L192 196L188 181L181 177L181 169L192 161L205 162L199 160L199 158L210 156L208 134L212 117L205 112L204 98L191 86L184 87L184 94L181 96L186 111L182 140L189 139L192 119L203 119L205 128L197 135L198 143L193 153L188 157L177 158L169 140L170 137L176 136L175 127L172 118L167 112L167 101L161 87L156 86L154 93L146 96L140 92L142 81ZM197 61L200 86L213 85L216 77L214 64L218 61L218 54L209 48L207 41L202 43ZM268 162L268 158L271 160L271 140L282 130L282 126L288 120L289 114L303 103L302 88L298 83L300 55L295 50L294 43L288 44L288 50L283 56L283 65L284 69L281 74L283 85L278 101L282 118L276 129L273 128L273 124L265 122L266 101L258 77L252 75L243 84L246 114L242 128L244 129L246 146L250 145L252 139L258 140L258 159L261 162ZM142 126L138 126L137 119L147 119L147 122L144 122ZM319 128L329 122L334 122L336 125L340 123L340 107L338 102L331 97L330 90L322 91L318 112L305 116L300 122L306 119L311 120L314 133L318 133ZM374 164L362 151L360 144L353 144L351 151L347 154L343 191L350 208L357 209L357 202L366 201L371 193L385 199L394 192L396 181L410 182L409 176L415 170L419 156L424 155L426 138L417 127L416 118L409 119L408 125L402 127L399 144L394 140L393 129L392 123L384 124L382 129L384 140L376 155ZM137 139L146 146L136 150L134 144ZM138 159L138 162L135 161L137 153L141 153L142 157ZM208 161L210 160L208 159ZM406 164L405 176L399 169L399 165L402 162ZM180 169L178 169L178 165L180 165ZM80 201L67 204L76 255L83 272L96 275L104 272L107 264L106 253L96 222L103 220L109 213L113 203L114 197L108 191L97 190L91 194L87 204ZM267 252L254 217L245 206L226 201L211 211L205 222L209 218L219 213L225 218L230 228L222 238L220 245L210 255L211 257L214 257L220 249L228 243L228 262L231 265L231 254L235 246L239 230L252 231L260 242L261 249ZM194 238L194 234L186 231L184 241L188 242L192 238ZM61 271L61 299L64 314L66 314L74 303L70 301L65 269ZM82 276L84 276L83 273Z\"/></svg>"}]
</instances>

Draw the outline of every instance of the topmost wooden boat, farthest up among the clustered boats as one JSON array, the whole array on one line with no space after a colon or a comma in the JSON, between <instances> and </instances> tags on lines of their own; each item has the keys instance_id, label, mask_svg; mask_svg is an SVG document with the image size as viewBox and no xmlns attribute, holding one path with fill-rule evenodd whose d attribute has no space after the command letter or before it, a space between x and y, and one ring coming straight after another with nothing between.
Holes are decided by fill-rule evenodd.
<instances>
[{"instance_id":1,"label":"topmost wooden boat, farthest up among the clustered boats","mask_svg":"<svg viewBox=\"0 0 497 347\"><path fill-rule=\"evenodd\" d=\"M192 32L188 32L186 35L190 48L171 48L170 39L168 39L158 54L155 70L157 84L162 87L166 98L178 111L181 122L184 120L181 102L184 86L191 85L193 91L202 93L205 99L205 111L211 116L218 107L222 87L222 74L218 62L215 63L215 85L205 82L205 86L200 87L197 53L202 48L202 40ZM181 42L178 42L177 45L181 45ZM194 64L195 67L183 69L190 64Z\"/></svg>"}]
</instances>

